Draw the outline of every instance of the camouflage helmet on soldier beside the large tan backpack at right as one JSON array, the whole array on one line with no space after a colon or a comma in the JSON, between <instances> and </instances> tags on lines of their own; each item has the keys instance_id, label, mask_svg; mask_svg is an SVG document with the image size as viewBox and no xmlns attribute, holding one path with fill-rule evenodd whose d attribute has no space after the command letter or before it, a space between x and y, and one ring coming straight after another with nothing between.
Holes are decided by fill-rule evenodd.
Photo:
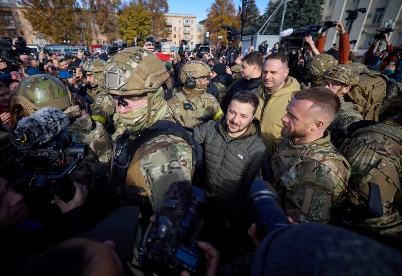
<instances>
[{"instance_id":1,"label":"camouflage helmet on soldier beside the large tan backpack at right","mask_svg":"<svg viewBox=\"0 0 402 276\"><path fill-rule=\"evenodd\" d=\"M346 86L354 86L360 82L359 71L344 64L332 66L322 74L322 77L334 80Z\"/></svg>"}]
</instances>

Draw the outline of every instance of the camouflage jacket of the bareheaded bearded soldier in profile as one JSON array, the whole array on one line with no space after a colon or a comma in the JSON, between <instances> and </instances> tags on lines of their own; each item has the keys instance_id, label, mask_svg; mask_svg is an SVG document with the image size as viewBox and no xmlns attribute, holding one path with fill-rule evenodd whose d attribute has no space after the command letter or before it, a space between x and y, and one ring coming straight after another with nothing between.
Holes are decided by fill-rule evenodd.
<instances>
[{"instance_id":1,"label":"camouflage jacket of the bareheaded bearded soldier in profile","mask_svg":"<svg viewBox=\"0 0 402 276\"><path fill-rule=\"evenodd\" d=\"M331 208L345 198L350 166L331 144L327 130L323 138L303 145L283 139L271 168L274 187L294 221L326 223Z\"/></svg>"}]
</instances>

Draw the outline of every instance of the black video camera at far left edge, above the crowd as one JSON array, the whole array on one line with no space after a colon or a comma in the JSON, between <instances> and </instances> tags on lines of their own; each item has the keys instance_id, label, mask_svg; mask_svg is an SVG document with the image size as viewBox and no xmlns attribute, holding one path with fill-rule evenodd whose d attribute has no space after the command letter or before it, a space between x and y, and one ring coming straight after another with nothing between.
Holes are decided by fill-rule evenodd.
<instances>
[{"instance_id":1,"label":"black video camera at far left edge, above the crowd","mask_svg":"<svg viewBox=\"0 0 402 276\"><path fill-rule=\"evenodd\" d=\"M17 38L13 45L16 49L12 48L12 41ZM6 62L7 67L20 66L19 52L25 50L27 43L23 37L13 35L11 38L5 37L0 39L0 58Z\"/></svg>"}]
</instances>

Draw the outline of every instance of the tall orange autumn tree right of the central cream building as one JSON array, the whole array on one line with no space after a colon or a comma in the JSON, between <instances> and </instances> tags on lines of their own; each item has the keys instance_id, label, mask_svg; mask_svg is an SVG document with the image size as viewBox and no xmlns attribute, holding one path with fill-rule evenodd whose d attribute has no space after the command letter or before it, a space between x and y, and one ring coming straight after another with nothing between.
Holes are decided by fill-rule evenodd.
<instances>
[{"instance_id":1,"label":"tall orange autumn tree right of the central cream building","mask_svg":"<svg viewBox=\"0 0 402 276\"><path fill-rule=\"evenodd\" d=\"M233 0L215 0L207 9L207 21L205 22L207 32L210 32L211 44L218 42L218 35L222 35L221 43L226 44L226 31L221 29L222 25L232 26L236 30L240 28L240 17L236 13Z\"/></svg>"}]
</instances>

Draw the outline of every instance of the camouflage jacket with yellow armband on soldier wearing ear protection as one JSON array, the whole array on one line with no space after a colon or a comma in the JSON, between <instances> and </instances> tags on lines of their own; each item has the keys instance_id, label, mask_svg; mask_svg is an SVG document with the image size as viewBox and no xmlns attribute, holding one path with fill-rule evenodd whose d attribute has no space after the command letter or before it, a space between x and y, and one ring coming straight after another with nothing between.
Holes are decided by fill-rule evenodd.
<instances>
[{"instance_id":1,"label":"camouflage jacket with yellow armband on soldier wearing ear protection","mask_svg":"<svg viewBox=\"0 0 402 276\"><path fill-rule=\"evenodd\" d=\"M167 101L174 117L184 127L193 128L209 120L218 120L223 116L217 99L208 93L197 97L187 97L183 91L173 91L173 97ZM189 104L190 108L184 108Z\"/></svg>"}]
</instances>

